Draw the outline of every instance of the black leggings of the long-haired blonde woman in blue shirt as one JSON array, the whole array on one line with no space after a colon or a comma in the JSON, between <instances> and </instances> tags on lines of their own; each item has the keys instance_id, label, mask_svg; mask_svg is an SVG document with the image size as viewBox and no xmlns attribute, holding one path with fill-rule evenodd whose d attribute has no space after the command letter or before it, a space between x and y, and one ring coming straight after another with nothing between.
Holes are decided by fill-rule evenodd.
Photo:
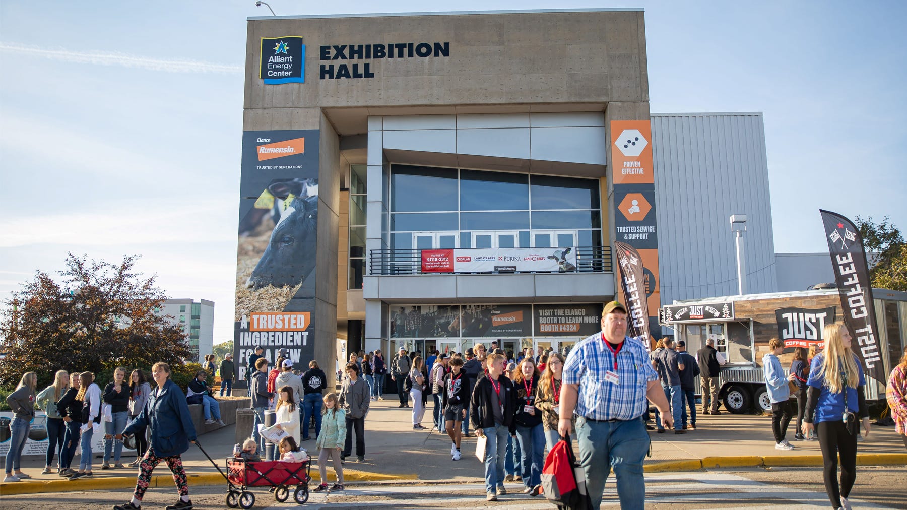
<instances>
[{"instance_id":1,"label":"black leggings of the long-haired blonde woman in blue shirt","mask_svg":"<svg viewBox=\"0 0 907 510\"><path fill-rule=\"evenodd\" d=\"M825 493L834 508L841 507L841 497L850 495L856 481L856 436L849 434L841 420L823 421L816 425L819 447L824 460ZM838 455L841 455L841 486L838 489Z\"/></svg>"}]
</instances>

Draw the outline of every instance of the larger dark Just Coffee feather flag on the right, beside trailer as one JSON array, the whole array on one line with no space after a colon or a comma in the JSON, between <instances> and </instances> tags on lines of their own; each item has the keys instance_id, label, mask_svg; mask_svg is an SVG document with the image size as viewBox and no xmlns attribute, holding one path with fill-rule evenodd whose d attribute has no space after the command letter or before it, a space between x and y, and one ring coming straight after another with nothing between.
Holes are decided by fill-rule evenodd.
<instances>
[{"instance_id":1,"label":"larger dark Just Coffee feather flag on the right, beside trailer","mask_svg":"<svg viewBox=\"0 0 907 510\"><path fill-rule=\"evenodd\" d=\"M853 337L853 351L863 361L866 375L877 381L885 381L887 373L883 366L878 338L875 335L875 307L873 306L873 284L869 280L869 264L863 249L860 232L844 216L832 211L819 210L825 227L825 240L832 257L834 282L841 294L841 310L844 325Z\"/></svg>"}]
</instances>

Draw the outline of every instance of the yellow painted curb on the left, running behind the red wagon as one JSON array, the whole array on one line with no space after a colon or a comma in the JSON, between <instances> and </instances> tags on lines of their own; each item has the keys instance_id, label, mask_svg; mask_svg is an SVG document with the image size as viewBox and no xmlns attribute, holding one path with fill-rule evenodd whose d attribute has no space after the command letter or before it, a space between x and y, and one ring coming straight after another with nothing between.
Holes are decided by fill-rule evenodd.
<instances>
[{"instance_id":1,"label":"yellow painted curb on the left, running behind the red wagon","mask_svg":"<svg viewBox=\"0 0 907 510\"><path fill-rule=\"evenodd\" d=\"M313 478L317 479L317 470L312 467ZM327 473L329 480L335 481L334 471ZM344 469L344 479L347 482L383 482L395 480L415 480L417 475L381 475L377 473L367 473L365 471L356 471L355 469ZM203 475L189 475L189 485L227 485L227 480L219 473L205 473ZM96 491L108 489L131 489L135 486L135 476L111 476L102 478L79 478L78 484L73 484L69 480L28 480L22 482L12 482L0 484L0 495L19 495L19 494L43 494L54 492L72 492L73 490ZM173 476L155 475L151 476L151 487L172 487Z\"/></svg>"}]
</instances>

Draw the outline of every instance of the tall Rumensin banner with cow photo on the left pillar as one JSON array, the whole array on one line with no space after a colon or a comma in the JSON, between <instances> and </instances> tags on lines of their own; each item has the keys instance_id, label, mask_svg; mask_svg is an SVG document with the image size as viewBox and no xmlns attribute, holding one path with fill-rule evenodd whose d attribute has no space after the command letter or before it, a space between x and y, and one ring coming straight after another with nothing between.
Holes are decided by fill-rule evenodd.
<instances>
[{"instance_id":1,"label":"tall Rumensin banner with cow photo on the left pillar","mask_svg":"<svg viewBox=\"0 0 907 510\"><path fill-rule=\"evenodd\" d=\"M249 357L278 350L295 368L314 355L318 130L242 133L233 356L239 379Z\"/></svg>"}]
</instances>

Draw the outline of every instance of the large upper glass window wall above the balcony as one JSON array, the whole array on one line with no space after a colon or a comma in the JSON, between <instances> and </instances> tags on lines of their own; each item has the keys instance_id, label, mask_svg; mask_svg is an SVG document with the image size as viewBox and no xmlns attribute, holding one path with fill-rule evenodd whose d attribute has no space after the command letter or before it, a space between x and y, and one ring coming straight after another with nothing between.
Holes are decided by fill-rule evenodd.
<instances>
[{"instance_id":1,"label":"large upper glass window wall above the balcony","mask_svg":"<svg viewBox=\"0 0 907 510\"><path fill-rule=\"evenodd\" d=\"M601 246L595 179L395 164L390 211L394 250Z\"/></svg>"}]
</instances>

